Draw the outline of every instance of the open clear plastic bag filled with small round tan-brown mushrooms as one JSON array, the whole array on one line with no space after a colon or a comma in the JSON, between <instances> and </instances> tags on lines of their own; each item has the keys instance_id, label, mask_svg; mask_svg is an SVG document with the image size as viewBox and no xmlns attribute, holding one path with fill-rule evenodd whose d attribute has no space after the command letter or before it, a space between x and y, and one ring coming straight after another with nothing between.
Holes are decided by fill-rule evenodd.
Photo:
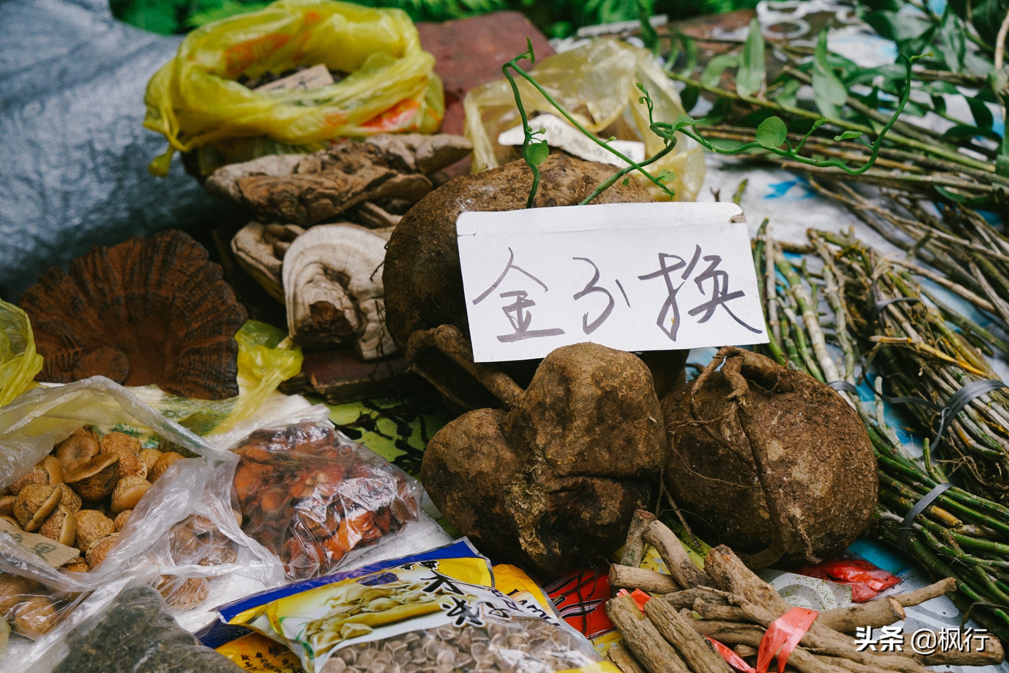
<instances>
[{"instance_id":1,"label":"open clear plastic bag filled with small round tan-brown mushrooms","mask_svg":"<svg viewBox=\"0 0 1009 673\"><path fill-rule=\"evenodd\" d=\"M276 559L236 521L236 462L100 376L28 390L0 410L0 508L10 513L0 520L0 580L42 585L55 603L45 629L22 630L14 614L15 632L58 638L63 607L121 577L162 589L164 577L283 581ZM204 529L191 549L169 544L180 526ZM200 602L194 593L179 610Z\"/></svg>"}]
</instances>

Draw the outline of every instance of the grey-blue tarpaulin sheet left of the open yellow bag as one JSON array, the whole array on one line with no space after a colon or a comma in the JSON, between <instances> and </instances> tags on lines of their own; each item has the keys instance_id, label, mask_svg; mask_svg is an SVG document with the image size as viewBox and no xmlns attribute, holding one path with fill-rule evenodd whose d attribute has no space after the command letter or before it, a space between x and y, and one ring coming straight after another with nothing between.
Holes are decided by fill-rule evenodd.
<instances>
[{"instance_id":1,"label":"grey-blue tarpaulin sheet left of the open yellow bag","mask_svg":"<svg viewBox=\"0 0 1009 673\"><path fill-rule=\"evenodd\" d=\"M107 0L0 0L0 297L96 244L213 222L227 206L141 127L143 91L180 38L112 18Z\"/></svg>"}]
</instances>

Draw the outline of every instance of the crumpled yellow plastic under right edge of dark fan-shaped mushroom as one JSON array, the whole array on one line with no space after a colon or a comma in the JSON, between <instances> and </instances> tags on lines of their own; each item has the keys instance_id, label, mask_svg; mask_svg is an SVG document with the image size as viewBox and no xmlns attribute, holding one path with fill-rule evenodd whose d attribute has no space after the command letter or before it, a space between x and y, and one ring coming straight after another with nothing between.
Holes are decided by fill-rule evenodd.
<instances>
[{"instance_id":1,"label":"crumpled yellow plastic under right edge of dark fan-shaped mushroom","mask_svg":"<svg viewBox=\"0 0 1009 673\"><path fill-rule=\"evenodd\" d=\"M255 414L282 381L302 370L302 349L292 347L286 336L272 325L256 320L246 321L238 330L237 398L190 400L163 392L156 385L129 389L187 430L200 436L221 436Z\"/></svg>"}]
</instances>

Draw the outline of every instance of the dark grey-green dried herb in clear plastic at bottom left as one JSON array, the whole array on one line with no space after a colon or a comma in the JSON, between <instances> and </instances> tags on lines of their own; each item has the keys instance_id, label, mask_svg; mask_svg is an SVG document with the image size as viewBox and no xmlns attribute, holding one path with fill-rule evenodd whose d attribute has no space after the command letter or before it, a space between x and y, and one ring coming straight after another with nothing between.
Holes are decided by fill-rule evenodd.
<instances>
[{"instance_id":1,"label":"dark grey-green dried herb in clear plastic at bottom left","mask_svg":"<svg viewBox=\"0 0 1009 673\"><path fill-rule=\"evenodd\" d=\"M55 673L238 673L226 658L181 629L145 584L126 586L67 636Z\"/></svg>"}]
</instances>

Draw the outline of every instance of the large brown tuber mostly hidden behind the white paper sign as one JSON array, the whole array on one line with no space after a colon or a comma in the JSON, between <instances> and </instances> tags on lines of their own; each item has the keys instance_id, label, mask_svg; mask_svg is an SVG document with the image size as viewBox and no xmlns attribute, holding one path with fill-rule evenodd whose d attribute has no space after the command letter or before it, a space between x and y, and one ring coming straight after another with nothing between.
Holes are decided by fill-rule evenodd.
<instances>
[{"instance_id":1,"label":"large brown tuber mostly hidden behind the white paper sign","mask_svg":"<svg viewBox=\"0 0 1009 673\"><path fill-rule=\"evenodd\" d=\"M538 207L574 206L615 170L565 154L551 154L540 165ZM382 285L385 292L385 325L401 351L411 335L440 325L454 325L469 334L463 297L455 221L464 211L507 211L526 207L532 173L525 161L513 161L475 176L455 178L427 195L404 216L388 241ZM648 203L654 201L638 182L616 183L597 196L593 204ZM518 263L518 262L516 262ZM458 364L434 349L408 354L411 366L430 380L443 396L462 409L496 407L497 401ZM686 351L664 351L645 358L655 382L663 384L683 370ZM526 385L536 370L536 360L501 364L501 370ZM661 371L660 371L661 369ZM660 388L660 395L664 390Z\"/></svg>"}]
</instances>

